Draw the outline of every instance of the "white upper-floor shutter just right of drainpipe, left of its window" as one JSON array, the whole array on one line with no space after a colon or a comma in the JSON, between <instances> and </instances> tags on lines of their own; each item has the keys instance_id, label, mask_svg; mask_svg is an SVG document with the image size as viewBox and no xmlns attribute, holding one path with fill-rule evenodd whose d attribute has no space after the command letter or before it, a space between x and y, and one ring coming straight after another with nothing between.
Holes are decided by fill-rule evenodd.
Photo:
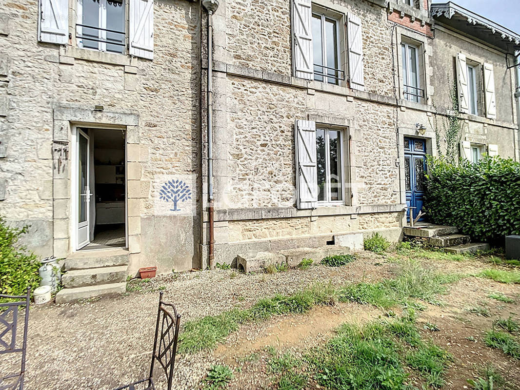
<instances>
[{"instance_id":1,"label":"white upper-floor shutter just right of drainpipe, left of its window","mask_svg":"<svg viewBox=\"0 0 520 390\"><path fill-rule=\"evenodd\" d=\"M312 15L310 0L292 0L294 76L306 80L314 79Z\"/></svg>"}]
</instances>

